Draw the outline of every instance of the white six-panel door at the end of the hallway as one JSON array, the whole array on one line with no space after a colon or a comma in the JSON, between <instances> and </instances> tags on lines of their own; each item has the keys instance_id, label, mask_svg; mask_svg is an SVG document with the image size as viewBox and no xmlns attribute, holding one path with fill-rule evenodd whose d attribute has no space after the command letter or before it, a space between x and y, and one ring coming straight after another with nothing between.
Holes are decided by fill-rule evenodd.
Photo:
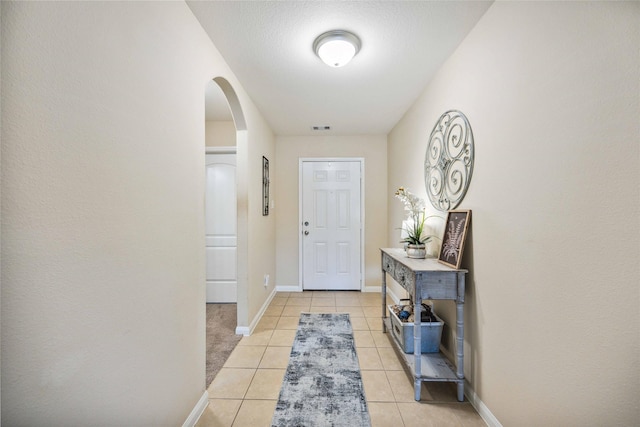
<instances>
[{"instance_id":1,"label":"white six-panel door at the end of the hallway","mask_svg":"<svg viewBox=\"0 0 640 427\"><path fill-rule=\"evenodd\" d=\"M358 161L302 162L302 287L361 289Z\"/></svg>"}]
</instances>

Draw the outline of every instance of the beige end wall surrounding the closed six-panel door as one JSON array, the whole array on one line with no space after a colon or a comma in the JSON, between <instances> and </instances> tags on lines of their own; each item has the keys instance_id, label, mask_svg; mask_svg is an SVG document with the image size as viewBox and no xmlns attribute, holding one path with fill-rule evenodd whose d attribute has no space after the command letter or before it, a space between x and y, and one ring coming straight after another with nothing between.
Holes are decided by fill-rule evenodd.
<instances>
[{"instance_id":1,"label":"beige end wall surrounding the closed six-panel door","mask_svg":"<svg viewBox=\"0 0 640 427\"><path fill-rule=\"evenodd\" d=\"M277 280L299 285L298 184L302 157L361 157L365 168L365 286L380 286L380 252L386 245L387 139L373 136L278 137L278 166L272 169L277 190Z\"/></svg>"}]
</instances>

